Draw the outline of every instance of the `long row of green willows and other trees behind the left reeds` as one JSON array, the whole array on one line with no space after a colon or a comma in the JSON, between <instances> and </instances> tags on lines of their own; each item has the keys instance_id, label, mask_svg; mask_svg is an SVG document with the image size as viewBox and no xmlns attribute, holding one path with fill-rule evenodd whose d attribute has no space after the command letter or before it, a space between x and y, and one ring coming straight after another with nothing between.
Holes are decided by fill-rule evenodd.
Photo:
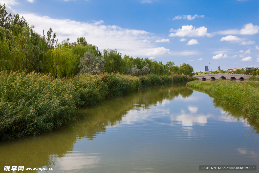
<instances>
[{"instance_id":1,"label":"long row of green willows and other trees behind the left reeds","mask_svg":"<svg viewBox=\"0 0 259 173\"><path fill-rule=\"evenodd\" d=\"M58 43L56 33L50 28L45 36L35 32L19 14L6 12L0 5L0 68L8 71L35 71L53 76L69 77L78 73L101 72L130 75L192 75L193 67L183 63L176 66L169 61L163 64L148 58L124 57L116 49L98 50L85 37L70 43L69 38Z\"/></svg>"}]
</instances>

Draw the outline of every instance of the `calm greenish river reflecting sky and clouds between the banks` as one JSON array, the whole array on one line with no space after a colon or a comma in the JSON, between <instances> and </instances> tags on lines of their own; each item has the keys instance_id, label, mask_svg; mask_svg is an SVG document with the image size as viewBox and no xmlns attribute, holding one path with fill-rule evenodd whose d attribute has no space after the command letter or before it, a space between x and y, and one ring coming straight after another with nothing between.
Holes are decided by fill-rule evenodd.
<instances>
[{"instance_id":1,"label":"calm greenish river reflecting sky and clouds between the banks","mask_svg":"<svg viewBox=\"0 0 259 173\"><path fill-rule=\"evenodd\" d=\"M53 167L49 173L211 172L199 171L199 165L259 166L258 125L237 108L222 107L185 84L107 99L80 109L79 119L51 133L1 141L0 172L12 172L4 166L13 165ZM16 172L45 172L25 168Z\"/></svg>"}]
</instances>

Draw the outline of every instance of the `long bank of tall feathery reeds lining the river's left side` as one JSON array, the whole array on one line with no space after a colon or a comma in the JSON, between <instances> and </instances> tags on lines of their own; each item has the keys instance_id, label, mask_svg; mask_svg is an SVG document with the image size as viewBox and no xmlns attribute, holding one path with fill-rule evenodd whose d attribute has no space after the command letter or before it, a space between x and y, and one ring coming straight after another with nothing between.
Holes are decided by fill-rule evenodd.
<instances>
[{"instance_id":1,"label":"long bank of tall feathery reeds lining the river's left side","mask_svg":"<svg viewBox=\"0 0 259 173\"><path fill-rule=\"evenodd\" d=\"M35 72L0 72L0 139L49 132L73 121L77 106L132 93L141 86L194 80L187 76L141 77L120 73L53 78Z\"/></svg>"}]
</instances>

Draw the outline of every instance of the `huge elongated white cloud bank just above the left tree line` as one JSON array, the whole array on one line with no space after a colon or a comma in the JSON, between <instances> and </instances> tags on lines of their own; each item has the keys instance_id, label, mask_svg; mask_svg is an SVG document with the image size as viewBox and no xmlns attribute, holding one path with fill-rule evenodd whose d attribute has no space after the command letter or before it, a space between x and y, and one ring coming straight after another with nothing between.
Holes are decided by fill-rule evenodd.
<instances>
[{"instance_id":1,"label":"huge elongated white cloud bank just above the left tree line","mask_svg":"<svg viewBox=\"0 0 259 173\"><path fill-rule=\"evenodd\" d=\"M104 25L102 20L84 23L69 19L52 19L32 13L20 14L20 16L24 16L30 25L35 25L35 31L38 33L42 33L42 30L47 31L51 27L59 41L69 37L73 42L78 37L84 36L88 43L98 46L99 50L117 49L123 55L146 56L156 48L151 40L158 40L154 33L125 29L117 25Z\"/></svg>"}]
</instances>

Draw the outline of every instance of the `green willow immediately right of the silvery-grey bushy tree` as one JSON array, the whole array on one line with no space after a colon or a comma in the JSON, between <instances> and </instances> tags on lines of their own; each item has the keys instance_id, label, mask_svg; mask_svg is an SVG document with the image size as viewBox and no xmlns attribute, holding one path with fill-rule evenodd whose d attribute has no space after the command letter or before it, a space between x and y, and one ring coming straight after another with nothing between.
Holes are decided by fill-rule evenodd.
<instances>
[{"instance_id":1,"label":"green willow immediately right of the silvery-grey bushy tree","mask_svg":"<svg viewBox=\"0 0 259 173\"><path fill-rule=\"evenodd\" d=\"M121 57L121 53L116 49L104 49L103 58L105 59L105 71L108 73L124 73L126 70L126 61Z\"/></svg>"}]
</instances>

